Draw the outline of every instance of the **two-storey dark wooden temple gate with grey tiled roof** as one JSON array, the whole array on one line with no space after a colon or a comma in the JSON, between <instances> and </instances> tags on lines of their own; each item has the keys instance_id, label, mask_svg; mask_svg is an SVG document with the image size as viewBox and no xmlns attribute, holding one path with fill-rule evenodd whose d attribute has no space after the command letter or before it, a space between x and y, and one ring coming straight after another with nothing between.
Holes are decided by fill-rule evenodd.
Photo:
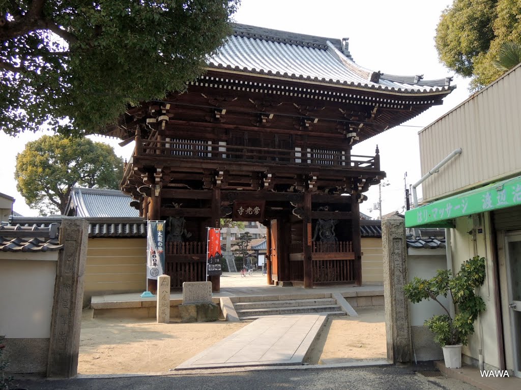
<instances>
[{"instance_id":1,"label":"two-storey dark wooden temple gate with grey tiled roof","mask_svg":"<svg viewBox=\"0 0 521 390\"><path fill-rule=\"evenodd\" d=\"M109 132L135 140L121 188L141 216L167 221L171 287L205 280L220 218L267 227L269 283L361 285L359 204L386 174L378 148L351 148L442 104L450 79L371 72L347 40L242 24L207 64Z\"/></svg>"}]
</instances>

